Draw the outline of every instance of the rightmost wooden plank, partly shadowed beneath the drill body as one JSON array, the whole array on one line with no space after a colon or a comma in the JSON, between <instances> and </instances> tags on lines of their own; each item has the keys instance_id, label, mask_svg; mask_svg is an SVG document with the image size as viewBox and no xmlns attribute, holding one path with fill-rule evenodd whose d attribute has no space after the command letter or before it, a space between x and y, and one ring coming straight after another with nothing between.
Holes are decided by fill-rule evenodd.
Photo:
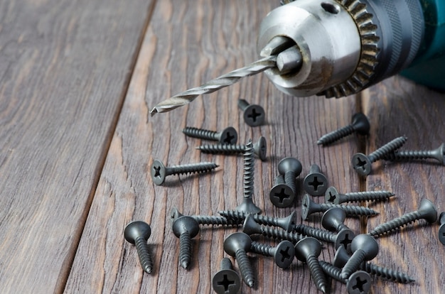
<instances>
[{"instance_id":1,"label":"rightmost wooden plank, partly shadowed beneath the drill body","mask_svg":"<svg viewBox=\"0 0 445 294\"><path fill-rule=\"evenodd\" d=\"M444 143L445 94L415 85L402 77L393 77L373 87L363 100L372 129L368 151L382 146L397 136L407 136L401 149L429 150ZM380 162L372 166L366 180L368 190L387 189L395 200L375 205L378 217L368 222L368 230L402 214L417 209L426 198L444 209L444 167L429 163ZM427 225L421 220L392 234L380 236L380 253L375 263L403 271L416 279L408 285L376 279L375 293L441 293L443 292L444 245L438 239L439 224ZM377 290L378 289L378 290Z\"/></svg>"}]
</instances>

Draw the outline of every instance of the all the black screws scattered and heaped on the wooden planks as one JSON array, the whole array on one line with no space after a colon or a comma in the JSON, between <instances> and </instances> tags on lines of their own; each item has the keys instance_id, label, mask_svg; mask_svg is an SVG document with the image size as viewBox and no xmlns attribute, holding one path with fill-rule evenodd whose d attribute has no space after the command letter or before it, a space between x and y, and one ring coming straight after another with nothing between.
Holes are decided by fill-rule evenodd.
<instances>
[{"instance_id":1,"label":"all the black screws scattered and heaped on the wooden planks","mask_svg":"<svg viewBox=\"0 0 445 294\"><path fill-rule=\"evenodd\" d=\"M245 121L250 126L257 126L264 122L264 110L258 106L249 105L240 99L239 106L245 111ZM247 113L247 114L246 114ZM322 136L318 144L324 146L337 141L344 136L357 132L368 134L370 124L364 114L353 116L350 126ZM393 271L390 268L369 263L377 256L379 245L376 238L403 227L418 219L425 219L429 223L436 222L437 210L433 203L424 199L419 209L409 212L396 219L372 229L368 234L355 234L345 224L345 217L368 216L378 214L368 207L343 205L345 202L385 201L394 196L388 191L350 192L341 194L335 187L328 187L326 175L321 173L318 165L311 165L309 174L304 178L306 195L301 200L301 218L309 219L316 212L323 212L321 225L323 229L296 224L296 212L288 217L275 218L260 215L261 209L253 202L254 155L262 161L266 158L267 143L264 137L257 143L249 141L245 145L237 143L237 131L232 127L223 131L208 131L203 129L186 128L183 133L195 138L218 141L215 145L198 146L203 153L212 154L242 154L244 158L243 197L242 203L232 210L218 212L219 215L204 216L181 214L173 208L170 214L173 234L179 239L179 264L189 268L192 261L192 241L200 232L200 225L239 227L242 232L235 232L228 236L223 244L224 251L235 257L240 269L242 280L249 286L255 284L255 274L250 265L248 252L271 256L280 268L288 268L294 257L306 263L311 277L321 292L328 291L326 276L347 285L348 293L368 293L371 288L371 276L386 278L397 283L410 283L414 278L405 273ZM434 158L445 165L444 144L434 151L398 151L407 141L406 137L395 138L368 156L357 153L352 158L354 170L359 175L366 176L371 172L371 165L376 160L412 160ZM167 175L186 173L205 173L217 168L215 163L195 163L188 165L173 165L166 167L160 160L154 160L151 166L151 178L156 185L162 185ZM302 165L296 158L284 158L278 164L279 175L275 178L275 185L269 193L272 204L276 207L290 207L294 204L297 194L296 178L301 174ZM316 203L312 196L324 195L325 203ZM439 240L445 244L445 212L440 217ZM124 236L127 241L135 244L139 254L141 266L147 273L151 273L153 262L147 248L146 241L151 234L149 224L132 222L125 228ZM281 240L277 246L255 241L254 235L261 235L269 239ZM331 263L321 261L322 243L334 244L336 256ZM241 278L232 268L229 258L223 258L220 271L215 273L212 281L213 289L217 293L238 293L241 288Z\"/></svg>"}]
</instances>

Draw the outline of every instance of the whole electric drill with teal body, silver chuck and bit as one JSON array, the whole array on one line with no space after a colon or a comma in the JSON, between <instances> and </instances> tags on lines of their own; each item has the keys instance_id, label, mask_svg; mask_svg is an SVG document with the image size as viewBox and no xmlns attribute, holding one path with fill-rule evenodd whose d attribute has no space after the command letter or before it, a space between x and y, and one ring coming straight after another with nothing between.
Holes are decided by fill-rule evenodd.
<instances>
[{"instance_id":1,"label":"whole electric drill with teal body, silver chuck and bit","mask_svg":"<svg viewBox=\"0 0 445 294\"><path fill-rule=\"evenodd\" d=\"M164 100L181 107L265 72L286 94L344 97L402 75L445 90L445 0L283 0L259 27L261 60Z\"/></svg>"}]
</instances>

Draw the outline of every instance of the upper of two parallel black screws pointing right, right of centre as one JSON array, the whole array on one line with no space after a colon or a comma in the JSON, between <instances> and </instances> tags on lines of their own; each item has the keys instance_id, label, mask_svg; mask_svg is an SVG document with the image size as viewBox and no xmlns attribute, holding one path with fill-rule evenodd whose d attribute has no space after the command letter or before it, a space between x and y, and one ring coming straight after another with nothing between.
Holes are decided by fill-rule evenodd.
<instances>
[{"instance_id":1,"label":"upper of two parallel black screws pointing right, right of centre","mask_svg":"<svg viewBox=\"0 0 445 294\"><path fill-rule=\"evenodd\" d=\"M328 187L325 193L325 202L333 204L341 204L344 202L359 202L368 200L387 200L395 194L389 191L365 191L365 192L350 192L341 194L335 187Z\"/></svg>"}]
</instances>

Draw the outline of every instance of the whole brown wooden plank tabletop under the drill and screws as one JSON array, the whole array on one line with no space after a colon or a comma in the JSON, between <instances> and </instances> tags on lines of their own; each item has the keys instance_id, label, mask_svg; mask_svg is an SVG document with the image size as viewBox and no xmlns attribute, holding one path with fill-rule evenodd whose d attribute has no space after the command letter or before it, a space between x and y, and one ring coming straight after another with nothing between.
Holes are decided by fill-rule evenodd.
<instances>
[{"instance_id":1,"label":"whole brown wooden plank tabletop under the drill and screws","mask_svg":"<svg viewBox=\"0 0 445 294\"><path fill-rule=\"evenodd\" d=\"M264 214L298 222L304 175L317 163L340 192L390 190L380 212L348 219L356 233L417 209L420 200L444 209L445 169L439 163L372 166L360 179L350 167L356 152L370 153L397 136L405 149L444 142L445 94L392 77L353 97L294 98L264 75L200 97L168 114L149 115L157 102L257 59L260 21L279 1L31 1L0 3L0 288L2 293L211 293L211 279L227 256L223 241L237 229L203 227L193 239L189 270L178 266L172 207L184 214L216 214L242 197L242 156L201 154L205 143L181 134L185 126L234 126L239 142L267 138L268 159L255 161L254 202ZM247 126L237 99L261 104L267 124ZM317 138L363 111L367 137L330 147ZM277 163L303 163L294 207L269 201ZM205 175L171 176L152 183L155 159L168 165L213 161ZM316 197L322 202L322 197ZM155 269L143 273L136 249L124 240L133 220L151 224ZM320 216L311 226L320 227ZM374 278L372 293L441 293L445 247L439 224L415 222L377 239L372 261L416 278L396 284ZM274 242L270 244L275 244ZM320 256L331 261L327 245ZM309 270L294 261L283 270L251 254L257 283L242 293L317 293ZM237 267L235 263L235 267ZM331 283L332 293L345 293Z\"/></svg>"}]
</instances>

